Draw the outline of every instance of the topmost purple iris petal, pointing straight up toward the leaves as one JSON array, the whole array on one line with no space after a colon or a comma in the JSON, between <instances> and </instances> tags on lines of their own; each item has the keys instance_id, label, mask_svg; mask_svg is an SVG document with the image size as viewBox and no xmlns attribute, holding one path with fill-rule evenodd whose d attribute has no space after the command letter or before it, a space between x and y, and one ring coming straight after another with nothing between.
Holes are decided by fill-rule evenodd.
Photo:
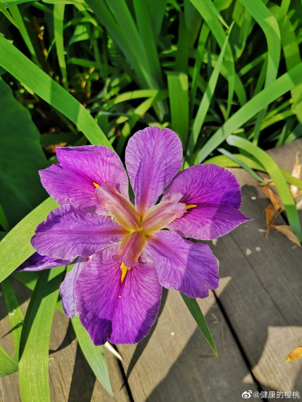
<instances>
[{"instance_id":1,"label":"topmost purple iris petal, pointing straight up toward the leaves","mask_svg":"<svg viewBox=\"0 0 302 402\"><path fill-rule=\"evenodd\" d=\"M128 141L125 163L140 216L152 207L182 165L182 144L174 131L147 127Z\"/></svg>"}]
</instances>

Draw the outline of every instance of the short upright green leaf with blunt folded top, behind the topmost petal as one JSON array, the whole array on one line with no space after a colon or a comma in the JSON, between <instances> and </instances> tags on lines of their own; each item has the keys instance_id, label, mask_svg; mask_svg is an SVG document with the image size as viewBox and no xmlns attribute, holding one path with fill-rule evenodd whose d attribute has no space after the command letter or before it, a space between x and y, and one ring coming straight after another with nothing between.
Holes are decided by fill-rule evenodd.
<instances>
[{"instance_id":1,"label":"short upright green leaf with blunt folded top, behind the topmost petal","mask_svg":"<svg viewBox=\"0 0 302 402\"><path fill-rule=\"evenodd\" d=\"M168 90L171 111L171 129L186 146L189 130L188 76L180 72L168 72Z\"/></svg>"}]
</instances>

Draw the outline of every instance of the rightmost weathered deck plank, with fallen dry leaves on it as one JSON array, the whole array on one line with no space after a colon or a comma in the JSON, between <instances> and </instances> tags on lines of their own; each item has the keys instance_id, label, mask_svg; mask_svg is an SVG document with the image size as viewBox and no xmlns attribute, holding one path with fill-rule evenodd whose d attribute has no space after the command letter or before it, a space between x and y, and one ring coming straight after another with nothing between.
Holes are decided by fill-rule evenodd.
<instances>
[{"instance_id":1,"label":"rightmost weathered deck plank, with fallen dry leaves on it","mask_svg":"<svg viewBox=\"0 0 302 402\"><path fill-rule=\"evenodd\" d=\"M269 153L291 171L302 142L289 145ZM302 361L285 365L285 359L302 344L302 251L275 230L265 238L269 201L244 170L231 170L243 185L242 211L254 220L214 242L220 274L231 278L216 294L263 389L301 395Z\"/></svg>"}]
</instances>

